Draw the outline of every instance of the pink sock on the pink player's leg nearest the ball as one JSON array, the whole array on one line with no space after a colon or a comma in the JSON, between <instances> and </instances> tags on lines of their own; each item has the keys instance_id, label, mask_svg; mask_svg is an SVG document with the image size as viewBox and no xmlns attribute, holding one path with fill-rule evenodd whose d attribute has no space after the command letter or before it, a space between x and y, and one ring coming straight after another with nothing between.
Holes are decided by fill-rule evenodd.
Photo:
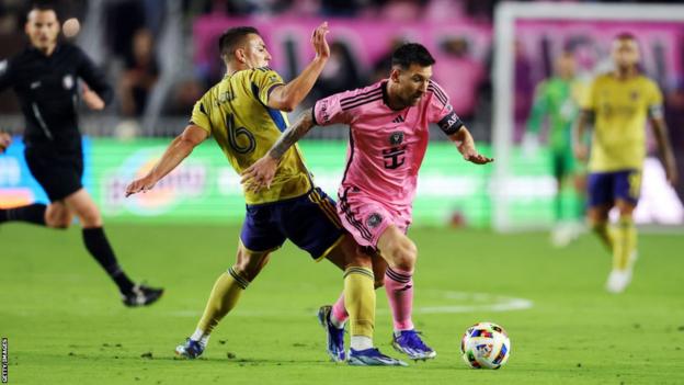
<instances>
[{"instance_id":1,"label":"pink sock on the pink player's leg nearest the ball","mask_svg":"<svg viewBox=\"0 0 684 385\"><path fill-rule=\"evenodd\" d=\"M392 310L395 330L413 329L413 272L387 268L385 292Z\"/></svg>"}]
</instances>

